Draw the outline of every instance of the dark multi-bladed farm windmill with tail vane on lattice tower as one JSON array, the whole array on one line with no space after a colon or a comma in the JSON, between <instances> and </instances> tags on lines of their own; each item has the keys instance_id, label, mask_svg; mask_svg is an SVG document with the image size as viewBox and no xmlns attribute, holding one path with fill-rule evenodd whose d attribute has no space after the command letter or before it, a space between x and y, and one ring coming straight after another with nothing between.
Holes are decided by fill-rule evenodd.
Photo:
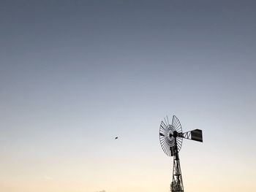
<instances>
[{"instance_id":1,"label":"dark multi-bladed farm windmill with tail vane on lattice tower","mask_svg":"<svg viewBox=\"0 0 256 192\"><path fill-rule=\"evenodd\" d=\"M159 128L159 139L162 150L168 156L173 156L173 181L170 184L171 192L184 192L181 164L179 162L178 152L181 150L183 139L191 139L197 142L203 142L202 130L195 129L193 131L182 132L181 123L178 118L173 115L171 124L168 117L164 118Z\"/></svg>"}]
</instances>

